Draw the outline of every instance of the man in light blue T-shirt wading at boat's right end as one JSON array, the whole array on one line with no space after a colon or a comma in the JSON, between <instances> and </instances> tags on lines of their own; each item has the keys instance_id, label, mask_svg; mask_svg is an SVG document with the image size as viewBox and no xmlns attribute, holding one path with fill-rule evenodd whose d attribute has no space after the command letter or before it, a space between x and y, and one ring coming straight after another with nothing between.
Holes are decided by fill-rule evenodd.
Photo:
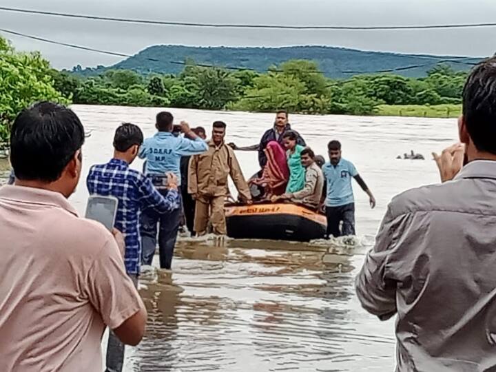
<instances>
[{"instance_id":1,"label":"man in light blue T-shirt wading at boat's right end","mask_svg":"<svg viewBox=\"0 0 496 372\"><path fill-rule=\"evenodd\" d=\"M327 197L325 198L327 237L355 235L355 200L351 178L355 178L358 185L369 196L371 208L375 207L375 198L353 163L341 157L341 143L331 141L327 149L329 150L329 163L322 167L327 183ZM341 222L342 229L340 229Z\"/></svg>"}]
</instances>

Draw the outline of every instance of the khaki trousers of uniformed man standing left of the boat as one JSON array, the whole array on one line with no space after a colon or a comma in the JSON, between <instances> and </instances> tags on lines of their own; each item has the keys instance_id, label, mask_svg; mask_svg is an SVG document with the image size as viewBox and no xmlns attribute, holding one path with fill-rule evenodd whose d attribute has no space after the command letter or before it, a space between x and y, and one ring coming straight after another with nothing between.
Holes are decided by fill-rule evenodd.
<instances>
[{"instance_id":1,"label":"khaki trousers of uniformed man standing left of the boat","mask_svg":"<svg viewBox=\"0 0 496 372\"><path fill-rule=\"evenodd\" d=\"M226 235L227 228L224 213L225 196L200 195L196 199L194 230L196 234L207 232L210 221L214 234Z\"/></svg>"}]
</instances>

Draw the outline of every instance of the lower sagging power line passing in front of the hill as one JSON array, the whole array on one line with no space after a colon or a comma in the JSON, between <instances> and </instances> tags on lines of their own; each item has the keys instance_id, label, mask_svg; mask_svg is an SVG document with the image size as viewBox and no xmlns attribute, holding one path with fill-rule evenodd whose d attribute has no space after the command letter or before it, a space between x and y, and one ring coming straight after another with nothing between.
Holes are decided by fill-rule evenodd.
<instances>
[{"instance_id":1,"label":"lower sagging power line passing in front of the hill","mask_svg":"<svg viewBox=\"0 0 496 372\"><path fill-rule=\"evenodd\" d=\"M107 55L111 55L111 56L122 56L122 57L135 56L136 57L136 55L133 55L133 54L126 54L126 53L121 53L121 52L112 52L112 51L108 51L108 50L90 48L90 47L86 47L83 45L76 45L76 44L72 44L72 43L63 43L61 41L54 41L54 40L50 40L50 39L45 39L43 37L36 37L33 35L29 35L29 34L23 34L21 32L6 30L4 28L0 28L0 31L5 32L6 34L13 34L13 35L16 35L19 37L25 37L27 39L42 41L44 43L50 43L50 44L54 44L54 45L61 45L61 46L65 46L68 48L86 50L89 52L96 52L96 53L107 54ZM398 55L401 55L401 54L398 54ZM139 56L139 58L145 59L147 61L171 63L174 65L189 65L189 63L187 63L187 62L180 62L180 61L165 61L165 60L143 57L143 56ZM473 57L462 57L462 59L473 59ZM403 67L399 67L399 68L391 68L391 69L375 70L375 71L340 71L340 70L338 70L337 72L340 72L342 74L375 74L375 73L384 73L384 72L397 72L397 71L404 71L404 70L413 70L415 68L423 68L423 67L426 67L429 65L435 65L435 64L439 64L439 63L460 63L463 65L476 65L477 64L474 62L460 61L459 59L435 59L433 57L433 62L424 63L422 65L409 65L409 66L403 66ZM216 65L207 65L205 63L195 63L194 65L198 66L198 67L202 67L202 68L222 68L225 70L237 70L237 71L249 70L249 71L257 72L257 70L255 70L254 68L246 68L246 67L216 66ZM268 71L269 72L285 72L284 70L277 70L277 69L270 69L270 68ZM320 71L320 70L317 70L317 71L316 70L295 70L295 71L309 73L309 74L326 74L326 73L329 74L329 72L327 72L327 71Z\"/></svg>"}]
</instances>

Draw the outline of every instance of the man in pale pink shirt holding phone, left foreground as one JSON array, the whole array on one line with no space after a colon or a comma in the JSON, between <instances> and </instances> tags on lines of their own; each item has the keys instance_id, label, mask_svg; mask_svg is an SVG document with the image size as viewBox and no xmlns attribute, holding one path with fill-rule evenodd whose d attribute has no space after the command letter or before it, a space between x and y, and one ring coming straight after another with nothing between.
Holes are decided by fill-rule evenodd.
<instances>
[{"instance_id":1,"label":"man in pale pink shirt holding phone, left foreground","mask_svg":"<svg viewBox=\"0 0 496 372\"><path fill-rule=\"evenodd\" d=\"M125 272L122 235L67 200L84 138L76 114L54 103L12 125L16 180L0 189L2 371L102 371L105 325L125 344L143 337L146 310Z\"/></svg>"}]
</instances>

